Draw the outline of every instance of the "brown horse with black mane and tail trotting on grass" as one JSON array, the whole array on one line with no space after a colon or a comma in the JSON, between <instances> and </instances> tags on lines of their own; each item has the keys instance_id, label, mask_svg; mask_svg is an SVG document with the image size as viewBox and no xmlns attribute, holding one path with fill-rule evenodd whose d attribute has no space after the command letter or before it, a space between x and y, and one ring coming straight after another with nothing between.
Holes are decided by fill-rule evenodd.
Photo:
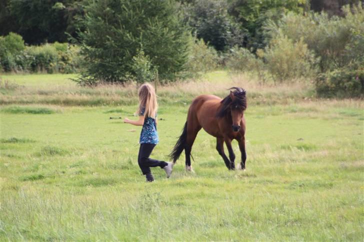
<instances>
[{"instance_id":1,"label":"brown horse with black mane and tail trotting on grass","mask_svg":"<svg viewBox=\"0 0 364 242\"><path fill-rule=\"evenodd\" d=\"M214 95L201 95L192 101L182 134L169 155L173 159L173 163L184 150L186 170L192 171L191 148L198 131L203 128L208 134L216 137L216 150L229 170L235 169L235 154L231 141L237 140L241 152L241 169L245 169L245 90L238 87L228 90L230 90L230 94L222 100ZM230 160L223 151L224 142Z\"/></svg>"}]
</instances>

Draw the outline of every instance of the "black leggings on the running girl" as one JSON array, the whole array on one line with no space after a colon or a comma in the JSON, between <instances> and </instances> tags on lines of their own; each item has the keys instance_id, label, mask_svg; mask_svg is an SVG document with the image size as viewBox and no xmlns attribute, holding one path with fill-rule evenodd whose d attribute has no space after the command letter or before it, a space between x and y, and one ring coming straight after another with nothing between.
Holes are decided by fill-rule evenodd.
<instances>
[{"instance_id":1,"label":"black leggings on the running girl","mask_svg":"<svg viewBox=\"0 0 364 242\"><path fill-rule=\"evenodd\" d=\"M140 167L143 175L150 173L149 167L159 166L160 168L163 168L166 165L168 165L164 161L158 161L158 160L153 160L153 159L149 158L150 153L154 147L155 147L155 144L140 144L139 155L138 155L138 164L139 164L139 167Z\"/></svg>"}]
</instances>

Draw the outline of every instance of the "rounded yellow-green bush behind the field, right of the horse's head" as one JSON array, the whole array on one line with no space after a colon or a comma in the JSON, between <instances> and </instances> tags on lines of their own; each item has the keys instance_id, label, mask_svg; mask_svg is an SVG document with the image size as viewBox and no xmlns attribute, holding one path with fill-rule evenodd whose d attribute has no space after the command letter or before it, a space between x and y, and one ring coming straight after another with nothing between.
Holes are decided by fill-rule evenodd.
<instances>
[{"instance_id":1,"label":"rounded yellow-green bush behind the field, right of the horse's head","mask_svg":"<svg viewBox=\"0 0 364 242\"><path fill-rule=\"evenodd\" d=\"M267 70L274 82L282 82L302 76L313 76L313 66L317 59L300 38L293 42L285 35L278 35L270 41L264 50Z\"/></svg>"}]
</instances>

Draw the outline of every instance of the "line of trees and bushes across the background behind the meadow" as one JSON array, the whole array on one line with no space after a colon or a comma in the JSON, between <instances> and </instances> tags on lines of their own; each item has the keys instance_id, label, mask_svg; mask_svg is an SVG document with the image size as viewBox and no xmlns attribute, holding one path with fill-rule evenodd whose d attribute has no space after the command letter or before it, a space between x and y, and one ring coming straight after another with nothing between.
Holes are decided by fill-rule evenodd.
<instances>
[{"instance_id":1,"label":"line of trees and bushes across the background behind the meadow","mask_svg":"<svg viewBox=\"0 0 364 242\"><path fill-rule=\"evenodd\" d=\"M79 83L95 84L174 80L222 65L253 70L262 82L322 74L322 84L328 73L350 69L340 72L346 89L364 88L360 0L3 0L0 7L5 71L79 65ZM78 47L64 54L58 42ZM83 61L64 57L72 53Z\"/></svg>"}]
</instances>

